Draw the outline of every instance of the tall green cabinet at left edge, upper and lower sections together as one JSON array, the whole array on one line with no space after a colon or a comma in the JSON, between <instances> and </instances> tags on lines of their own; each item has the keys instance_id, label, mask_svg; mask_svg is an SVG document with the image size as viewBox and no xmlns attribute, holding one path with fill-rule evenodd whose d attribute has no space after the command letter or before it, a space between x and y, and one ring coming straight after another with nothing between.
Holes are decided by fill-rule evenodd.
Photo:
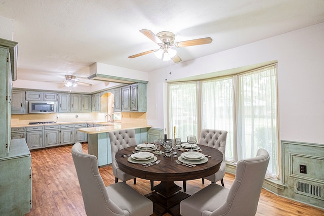
<instances>
[{"instance_id":1,"label":"tall green cabinet at left edge, upper and lower sections together","mask_svg":"<svg viewBox=\"0 0 324 216\"><path fill-rule=\"evenodd\" d=\"M12 77L16 77L17 44L0 39L0 215L9 216L28 213L32 203L30 152L24 139L11 140Z\"/></svg>"}]
</instances>

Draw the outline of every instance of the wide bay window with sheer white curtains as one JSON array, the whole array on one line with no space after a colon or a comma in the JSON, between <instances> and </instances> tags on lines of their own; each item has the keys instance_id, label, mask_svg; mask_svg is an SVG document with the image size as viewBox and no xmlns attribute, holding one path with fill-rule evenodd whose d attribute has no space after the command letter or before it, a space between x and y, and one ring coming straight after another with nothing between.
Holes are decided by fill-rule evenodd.
<instances>
[{"instance_id":1,"label":"wide bay window with sheer white curtains","mask_svg":"<svg viewBox=\"0 0 324 216\"><path fill-rule=\"evenodd\" d=\"M170 83L168 91L170 137L173 126L182 140L200 135L201 128L223 129L228 132L226 160L235 163L264 148L270 155L266 177L277 178L276 65L225 78Z\"/></svg>"}]
</instances>

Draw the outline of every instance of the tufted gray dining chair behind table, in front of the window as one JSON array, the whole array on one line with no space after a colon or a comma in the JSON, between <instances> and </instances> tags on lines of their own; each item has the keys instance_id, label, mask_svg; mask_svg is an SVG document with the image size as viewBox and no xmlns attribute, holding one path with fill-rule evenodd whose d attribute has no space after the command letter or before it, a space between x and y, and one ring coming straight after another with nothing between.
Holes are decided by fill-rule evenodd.
<instances>
[{"instance_id":1,"label":"tufted gray dining chair behind table, in front of the window","mask_svg":"<svg viewBox=\"0 0 324 216\"><path fill-rule=\"evenodd\" d=\"M222 186L224 186L223 178L225 176L225 147L226 147L226 138L227 138L227 131L222 131L218 129L202 129L200 138L198 141L199 145L209 146L215 149L218 149L220 152L223 153L223 161L219 170L205 179L210 180L212 183L221 181ZM204 179L202 179L204 184Z\"/></svg>"}]
</instances>

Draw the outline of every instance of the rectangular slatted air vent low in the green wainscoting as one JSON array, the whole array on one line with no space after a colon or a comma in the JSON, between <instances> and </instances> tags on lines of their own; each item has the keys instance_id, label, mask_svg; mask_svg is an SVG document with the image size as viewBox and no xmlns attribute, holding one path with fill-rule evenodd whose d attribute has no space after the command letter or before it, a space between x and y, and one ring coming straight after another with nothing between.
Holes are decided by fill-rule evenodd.
<instances>
[{"instance_id":1,"label":"rectangular slatted air vent low in the green wainscoting","mask_svg":"<svg viewBox=\"0 0 324 216\"><path fill-rule=\"evenodd\" d=\"M295 193L324 200L324 185L296 179Z\"/></svg>"}]
</instances>

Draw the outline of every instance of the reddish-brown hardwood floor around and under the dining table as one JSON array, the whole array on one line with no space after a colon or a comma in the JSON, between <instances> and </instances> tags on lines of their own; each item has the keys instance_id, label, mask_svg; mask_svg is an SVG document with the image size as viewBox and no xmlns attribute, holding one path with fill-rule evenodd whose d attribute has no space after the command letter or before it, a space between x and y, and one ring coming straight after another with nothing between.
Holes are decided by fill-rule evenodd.
<instances>
[{"instance_id":1,"label":"reddish-brown hardwood floor around and under the dining table","mask_svg":"<svg viewBox=\"0 0 324 216\"><path fill-rule=\"evenodd\" d=\"M31 152L32 209L27 215L86 215L72 156L72 146L44 149ZM83 144L88 152L88 145ZM114 183L110 166L100 168L105 185ZM225 187L230 188L233 175L226 174ZM148 180L137 179L136 185L128 185L145 195L151 192ZM177 183L182 186L182 182ZM201 179L187 181L187 193L193 194L207 186ZM170 215L170 214L165 214ZM256 215L324 215L324 210L276 196L262 189ZM155 215L154 215L155 216Z\"/></svg>"}]
</instances>

